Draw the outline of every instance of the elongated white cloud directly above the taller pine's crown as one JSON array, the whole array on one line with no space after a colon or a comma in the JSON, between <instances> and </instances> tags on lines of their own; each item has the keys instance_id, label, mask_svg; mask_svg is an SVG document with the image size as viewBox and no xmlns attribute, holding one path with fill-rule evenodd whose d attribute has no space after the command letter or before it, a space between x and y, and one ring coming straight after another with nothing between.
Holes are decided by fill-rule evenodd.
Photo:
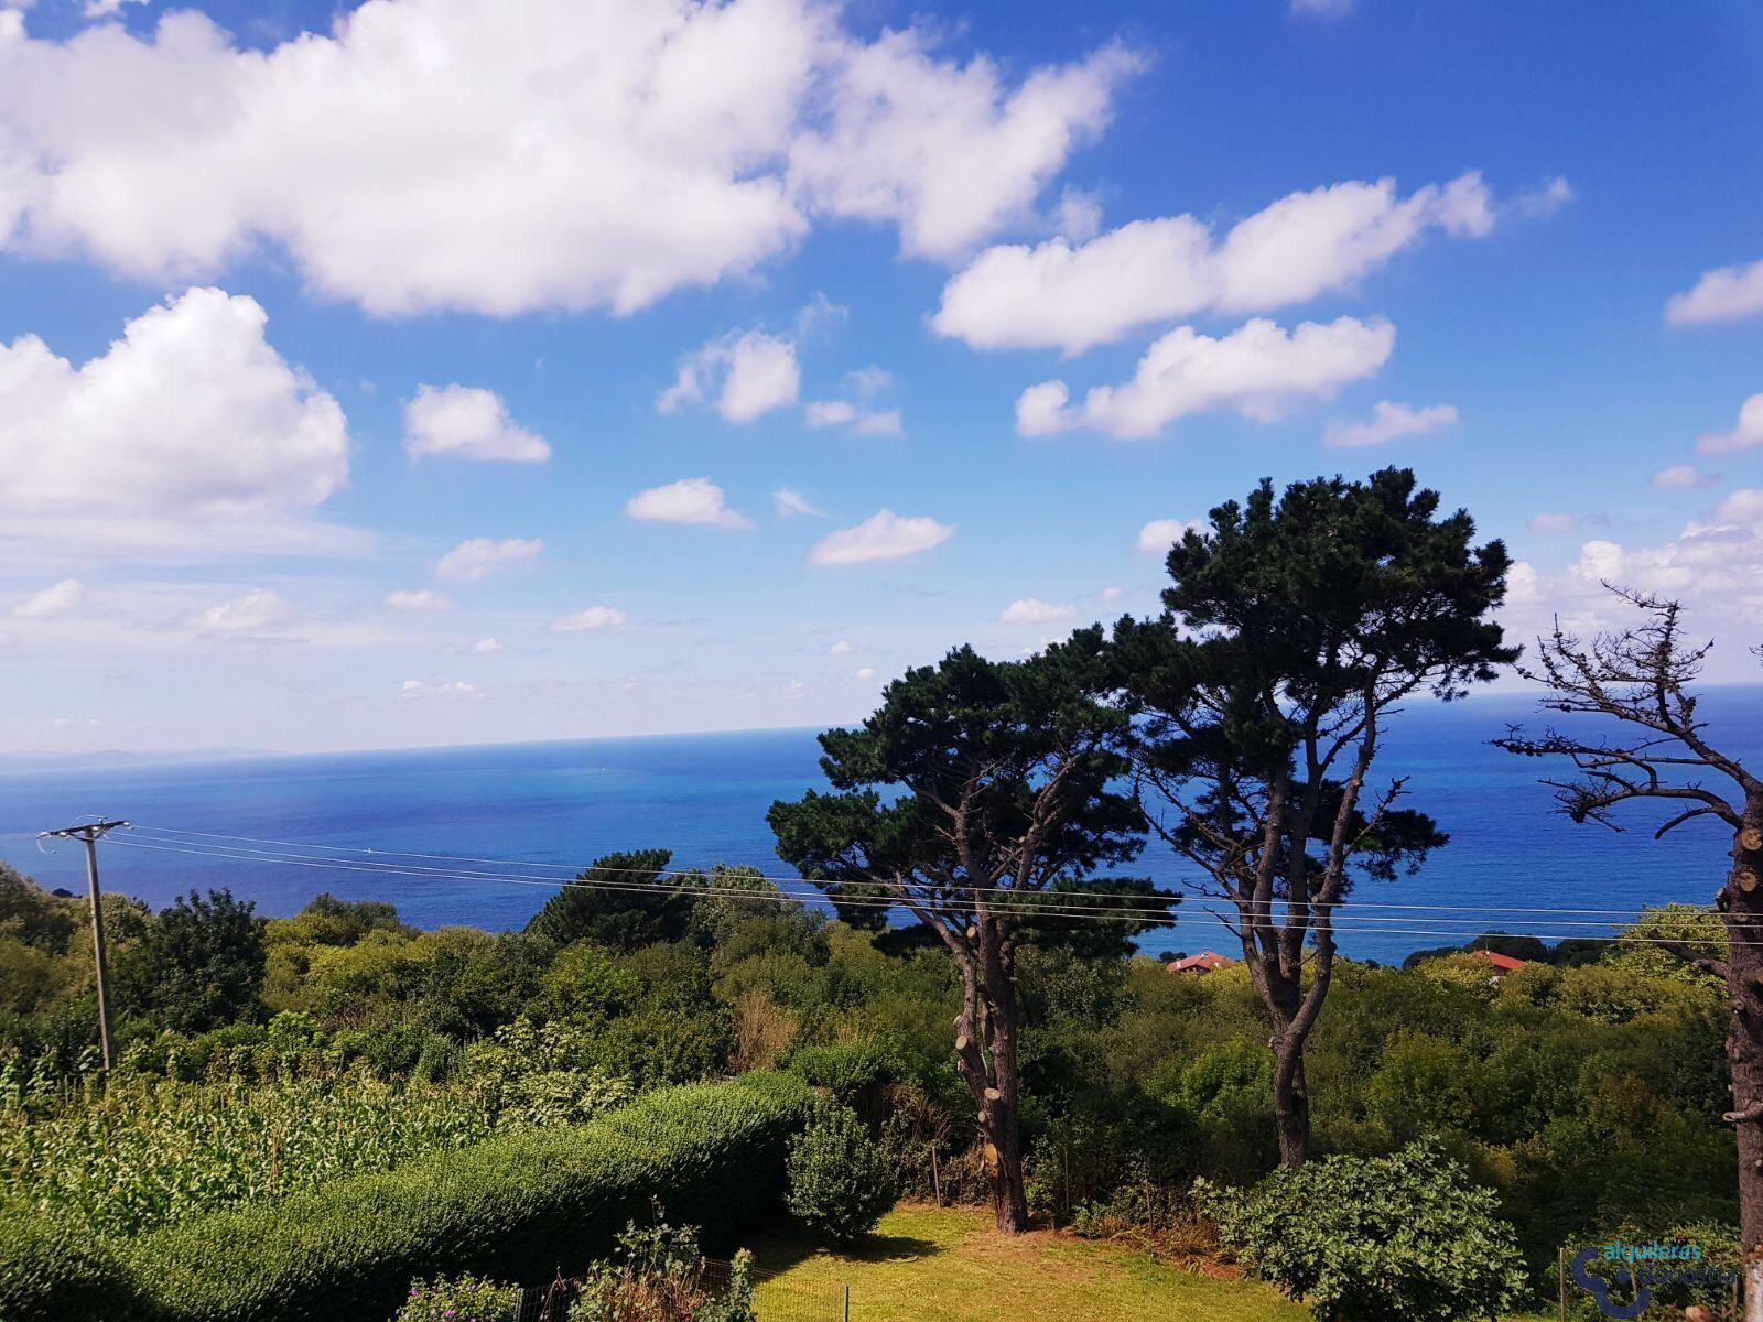
<instances>
[{"instance_id":1,"label":"elongated white cloud directly above the taller pine's crown","mask_svg":"<svg viewBox=\"0 0 1763 1322\"><path fill-rule=\"evenodd\" d=\"M1292 404L1329 398L1373 375L1395 345L1395 326L1358 317L1306 321L1291 333L1255 319L1224 338L1179 326L1146 349L1132 381L1097 386L1081 409L1068 407L1063 381L1030 386L1015 404L1015 430L1051 435L1086 427L1139 439L1208 409L1273 421Z\"/></svg>"}]
</instances>

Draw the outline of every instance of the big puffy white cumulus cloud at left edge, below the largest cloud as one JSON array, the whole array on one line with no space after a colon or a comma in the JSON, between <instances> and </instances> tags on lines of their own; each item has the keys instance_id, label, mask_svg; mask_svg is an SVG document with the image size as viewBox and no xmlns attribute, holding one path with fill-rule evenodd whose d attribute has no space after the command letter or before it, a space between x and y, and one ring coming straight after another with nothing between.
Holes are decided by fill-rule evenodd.
<instances>
[{"instance_id":1,"label":"big puffy white cumulus cloud at left edge, below the largest cloud","mask_svg":"<svg viewBox=\"0 0 1763 1322\"><path fill-rule=\"evenodd\" d=\"M310 511L347 478L347 425L266 323L256 300L190 289L81 367L35 335L0 344L5 536L79 552L326 543Z\"/></svg>"}]
</instances>

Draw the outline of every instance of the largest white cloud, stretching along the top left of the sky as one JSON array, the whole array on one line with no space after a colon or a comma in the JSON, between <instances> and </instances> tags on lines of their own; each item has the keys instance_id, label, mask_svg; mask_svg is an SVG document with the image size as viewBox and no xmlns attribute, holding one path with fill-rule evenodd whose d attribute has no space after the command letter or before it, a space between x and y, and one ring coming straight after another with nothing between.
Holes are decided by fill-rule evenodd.
<instances>
[{"instance_id":1,"label":"largest white cloud, stretching along the top left of the sky","mask_svg":"<svg viewBox=\"0 0 1763 1322\"><path fill-rule=\"evenodd\" d=\"M629 314L816 224L948 256L1021 217L1134 56L1005 76L813 0L388 0L268 49L197 12L0 41L0 243L164 280L277 249L381 316Z\"/></svg>"}]
</instances>

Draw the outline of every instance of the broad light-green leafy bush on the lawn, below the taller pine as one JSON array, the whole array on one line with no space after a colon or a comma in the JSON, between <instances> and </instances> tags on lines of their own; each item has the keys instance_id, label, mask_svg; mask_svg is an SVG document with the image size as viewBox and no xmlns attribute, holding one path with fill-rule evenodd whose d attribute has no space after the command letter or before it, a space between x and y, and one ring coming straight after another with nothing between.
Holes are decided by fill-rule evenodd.
<instances>
[{"instance_id":1,"label":"broad light-green leafy bush on the lawn, below the taller pine","mask_svg":"<svg viewBox=\"0 0 1763 1322\"><path fill-rule=\"evenodd\" d=\"M1275 1170L1253 1190L1194 1192L1227 1243L1328 1322L1493 1318L1523 1296L1499 1199L1432 1140Z\"/></svg>"}]
</instances>

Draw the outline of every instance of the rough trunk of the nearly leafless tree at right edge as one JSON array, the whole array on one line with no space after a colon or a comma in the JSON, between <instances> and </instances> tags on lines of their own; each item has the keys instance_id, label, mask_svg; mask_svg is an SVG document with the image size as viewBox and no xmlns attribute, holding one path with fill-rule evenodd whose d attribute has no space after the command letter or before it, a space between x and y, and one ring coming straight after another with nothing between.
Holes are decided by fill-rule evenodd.
<instances>
[{"instance_id":1,"label":"rough trunk of the nearly leafless tree at right edge","mask_svg":"<svg viewBox=\"0 0 1763 1322\"><path fill-rule=\"evenodd\" d=\"M1733 871L1721 895L1731 950L1726 992L1731 1019L1726 1058L1733 1068L1731 1119L1738 1130L1738 1237L1745 1251L1745 1322L1763 1322L1763 802L1745 806L1733 841ZM1749 890L1745 888L1749 885Z\"/></svg>"}]
</instances>

